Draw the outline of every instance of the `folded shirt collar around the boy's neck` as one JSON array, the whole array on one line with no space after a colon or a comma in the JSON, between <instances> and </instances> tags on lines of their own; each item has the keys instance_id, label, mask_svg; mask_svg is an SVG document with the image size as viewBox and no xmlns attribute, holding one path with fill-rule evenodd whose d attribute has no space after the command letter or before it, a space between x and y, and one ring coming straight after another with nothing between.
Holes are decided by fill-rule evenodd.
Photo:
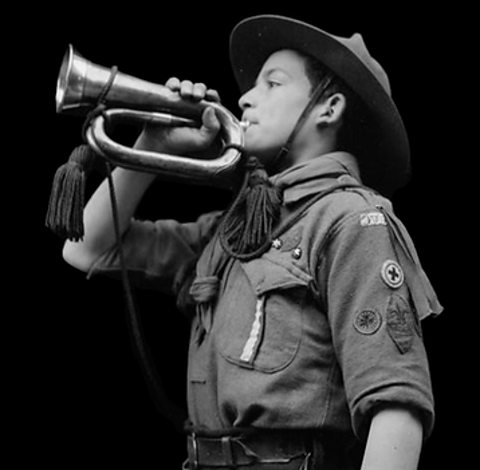
<instances>
[{"instance_id":1,"label":"folded shirt collar around the boy's neck","mask_svg":"<svg viewBox=\"0 0 480 470\"><path fill-rule=\"evenodd\" d=\"M294 165L271 177L283 190L285 204L297 202L339 182L359 183L360 170L353 155L332 152Z\"/></svg>"}]
</instances>

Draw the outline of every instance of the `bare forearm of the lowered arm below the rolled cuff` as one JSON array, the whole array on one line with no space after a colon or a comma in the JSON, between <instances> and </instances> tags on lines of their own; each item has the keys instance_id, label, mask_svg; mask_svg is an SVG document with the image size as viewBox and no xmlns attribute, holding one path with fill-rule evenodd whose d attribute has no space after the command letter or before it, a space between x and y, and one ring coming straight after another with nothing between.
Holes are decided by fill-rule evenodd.
<instances>
[{"instance_id":1,"label":"bare forearm of the lowered arm below the rolled cuff","mask_svg":"<svg viewBox=\"0 0 480 470\"><path fill-rule=\"evenodd\" d=\"M423 429L405 408L379 411L372 419L361 470L416 470Z\"/></svg>"}]
</instances>

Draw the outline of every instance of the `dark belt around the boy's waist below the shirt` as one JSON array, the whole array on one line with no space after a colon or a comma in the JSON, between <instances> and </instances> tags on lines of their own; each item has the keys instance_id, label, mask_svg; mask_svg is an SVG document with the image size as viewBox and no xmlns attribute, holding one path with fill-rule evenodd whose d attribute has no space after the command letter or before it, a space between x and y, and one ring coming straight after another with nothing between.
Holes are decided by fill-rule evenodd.
<instances>
[{"instance_id":1,"label":"dark belt around the boy's waist below the shirt","mask_svg":"<svg viewBox=\"0 0 480 470\"><path fill-rule=\"evenodd\" d=\"M312 433L300 430L262 430L218 437L199 436L193 432L187 437L188 460L184 468L307 469L313 457L316 461L318 459L317 447L318 443L313 443Z\"/></svg>"}]
</instances>

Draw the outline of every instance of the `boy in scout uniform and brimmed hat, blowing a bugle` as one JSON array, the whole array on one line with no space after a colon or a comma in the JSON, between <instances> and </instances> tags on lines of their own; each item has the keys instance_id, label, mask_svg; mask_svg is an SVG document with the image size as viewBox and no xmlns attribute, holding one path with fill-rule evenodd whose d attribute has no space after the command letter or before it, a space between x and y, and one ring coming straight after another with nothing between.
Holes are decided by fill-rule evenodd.
<instances>
[{"instance_id":1,"label":"boy in scout uniform and brimmed hat, blowing a bugle","mask_svg":"<svg viewBox=\"0 0 480 470\"><path fill-rule=\"evenodd\" d=\"M236 26L231 61L251 158L228 211L132 219L154 176L114 171L133 278L193 305L186 465L414 469L434 422L420 321L441 307L386 197L409 173L387 75L359 34L270 15ZM148 128L136 146L185 154L218 131L207 109L200 129ZM115 273L105 183L84 218L64 258Z\"/></svg>"}]
</instances>

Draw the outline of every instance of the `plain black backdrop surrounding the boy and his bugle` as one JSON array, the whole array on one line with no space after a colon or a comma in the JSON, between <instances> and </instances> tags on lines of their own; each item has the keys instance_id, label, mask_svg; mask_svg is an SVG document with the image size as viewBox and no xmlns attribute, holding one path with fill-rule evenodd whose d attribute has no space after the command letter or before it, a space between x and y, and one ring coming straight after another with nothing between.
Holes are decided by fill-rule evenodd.
<instances>
[{"instance_id":1,"label":"plain black backdrop surrounding the boy and his bugle","mask_svg":"<svg viewBox=\"0 0 480 470\"><path fill-rule=\"evenodd\" d=\"M67 45L94 63L118 65L120 71L152 82L163 83L170 76L205 82L237 113L229 33L246 16L276 13L337 35L360 32L389 73L409 132L414 172L393 202L445 307L441 317L424 323L437 424L420 469L438 463L464 467L460 462L468 459L466 423L474 396L462 339L468 327L460 317L468 310L459 265L462 198L453 198L460 187L455 176L458 137L452 127L458 86L451 64L446 65L456 46L445 37L447 26L458 20L447 11L422 14L395 5L387 11L342 5L131 3L104 11L88 5L42 7L22 17L15 31L20 46L16 70L21 72L9 80L22 87L16 94L21 116L13 127L20 131L15 153L25 158L16 160L12 174L18 185L11 220L21 229L13 231L13 246L18 243L19 249L12 250L13 283L7 292L14 298L12 316L19 320L12 354L19 359L12 381L18 399L12 402L18 411L12 435L22 447L20 459L33 458L51 468L180 468L185 458L184 437L156 413L132 353L121 286L106 279L85 280L63 262L62 241L44 228L55 170L80 142L81 120L55 113L56 79ZM27 109L33 111L25 119L22 111ZM94 174L93 181L100 177ZM139 213L189 220L227 201L228 194L212 188L157 182ZM183 406L188 324L169 298L144 291L136 297L167 392Z\"/></svg>"}]
</instances>

